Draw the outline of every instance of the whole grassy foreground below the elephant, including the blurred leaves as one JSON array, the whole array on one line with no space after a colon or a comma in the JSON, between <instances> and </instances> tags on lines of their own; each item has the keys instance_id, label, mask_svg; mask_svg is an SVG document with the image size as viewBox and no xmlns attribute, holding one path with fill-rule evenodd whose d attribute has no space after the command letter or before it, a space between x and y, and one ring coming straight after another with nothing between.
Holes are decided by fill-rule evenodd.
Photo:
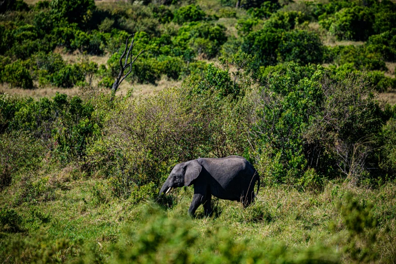
<instances>
[{"instance_id":1,"label":"whole grassy foreground below the elephant, including the blurred leaves","mask_svg":"<svg viewBox=\"0 0 396 264\"><path fill-rule=\"evenodd\" d=\"M73 180L74 179L74 180ZM41 181L41 182L40 182ZM396 188L329 182L321 193L261 188L247 209L213 199L215 215L187 216L192 188L135 204L106 180L73 170L0 198L0 261L137 263L337 263L396 261ZM22 189L21 189L22 188ZM13 207L14 209L8 209Z\"/></svg>"}]
</instances>

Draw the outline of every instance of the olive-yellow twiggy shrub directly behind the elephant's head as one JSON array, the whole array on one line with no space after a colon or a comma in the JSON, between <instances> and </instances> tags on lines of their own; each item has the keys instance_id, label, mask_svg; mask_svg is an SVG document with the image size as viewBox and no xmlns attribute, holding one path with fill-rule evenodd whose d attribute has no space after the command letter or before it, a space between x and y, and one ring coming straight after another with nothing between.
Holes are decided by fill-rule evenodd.
<instances>
[{"instance_id":1,"label":"olive-yellow twiggy shrub directly behind the elephant's head","mask_svg":"<svg viewBox=\"0 0 396 264\"><path fill-rule=\"evenodd\" d=\"M186 92L169 89L148 98L129 99L112 118L103 140L89 150L92 166L112 175L113 194L127 198L135 188L159 185L170 166L197 155L206 140L205 117ZM123 135L123 136L121 136ZM122 140L119 149L113 139Z\"/></svg>"}]
</instances>

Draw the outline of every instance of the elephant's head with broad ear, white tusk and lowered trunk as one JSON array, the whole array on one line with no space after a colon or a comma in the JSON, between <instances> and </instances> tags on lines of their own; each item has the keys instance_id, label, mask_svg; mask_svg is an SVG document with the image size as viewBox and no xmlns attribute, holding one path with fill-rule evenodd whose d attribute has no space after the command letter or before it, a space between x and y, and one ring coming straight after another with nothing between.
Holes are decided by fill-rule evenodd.
<instances>
[{"instance_id":1,"label":"elephant's head with broad ear, white tusk and lowered trunk","mask_svg":"<svg viewBox=\"0 0 396 264\"><path fill-rule=\"evenodd\" d=\"M167 194L172 188L192 185L192 182L198 178L201 170L202 165L196 159L175 165L168 179L162 185L159 195L165 191L165 194Z\"/></svg>"}]
</instances>

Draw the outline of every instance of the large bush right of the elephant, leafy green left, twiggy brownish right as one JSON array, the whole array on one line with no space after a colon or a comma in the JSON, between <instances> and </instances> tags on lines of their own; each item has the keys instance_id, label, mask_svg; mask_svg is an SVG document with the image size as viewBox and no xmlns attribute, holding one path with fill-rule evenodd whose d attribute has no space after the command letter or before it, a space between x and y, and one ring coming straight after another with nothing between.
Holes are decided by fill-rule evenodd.
<instances>
[{"instance_id":1,"label":"large bush right of the elephant, leafy green left, twiggy brownish right","mask_svg":"<svg viewBox=\"0 0 396 264\"><path fill-rule=\"evenodd\" d=\"M356 184L366 164L375 164L375 135L388 117L361 75L289 65L284 75L270 75L260 94L253 131L266 136L256 139L254 149L268 184L304 184L303 178L312 178L305 175L309 167L320 178L334 177L338 167Z\"/></svg>"}]
</instances>

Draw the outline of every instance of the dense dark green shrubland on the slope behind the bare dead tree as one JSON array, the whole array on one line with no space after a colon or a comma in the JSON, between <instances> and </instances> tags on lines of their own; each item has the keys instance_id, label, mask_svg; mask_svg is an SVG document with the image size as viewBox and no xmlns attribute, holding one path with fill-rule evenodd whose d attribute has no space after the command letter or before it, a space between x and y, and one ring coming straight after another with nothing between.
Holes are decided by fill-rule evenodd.
<instances>
[{"instance_id":1,"label":"dense dark green shrubland on the slope behind the bare dead tree","mask_svg":"<svg viewBox=\"0 0 396 264\"><path fill-rule=\"evenodd\" d=\"M61 53L78 51L88 55L86 58L108 54L106 65L98 70L92 65L92 76L109 86L117 72L114 67L123 41L136 32L135 52L144 49L145 53L128 77L133 82L155 84L161 76L184 79L205 69L203 59L247 53L254 58L251 70L255 72L286 62L327 63L336 72L369 71L371 82L380 92L396 86L394 78L383 74L394 71L387 69L385 62L396 59L394 3L238 1L239 9L230 8L236 2L212 3L215 10L202 9L194 1L130 1L98 6L92 0L40 1L34 6L7 2L0 22L0 81L24 89L89 82L79 63L63 63L61 71L54 65L50 67L54 72L39 65L37 56L56 57L52 52L57 48ZM237 21L237 37L219 18ZM319 28L311 26L318 23ZM326 38L365 42L330 47L324 44ZM57 66L62 64L54 59Z\"/></svg>"}]
</instances>

